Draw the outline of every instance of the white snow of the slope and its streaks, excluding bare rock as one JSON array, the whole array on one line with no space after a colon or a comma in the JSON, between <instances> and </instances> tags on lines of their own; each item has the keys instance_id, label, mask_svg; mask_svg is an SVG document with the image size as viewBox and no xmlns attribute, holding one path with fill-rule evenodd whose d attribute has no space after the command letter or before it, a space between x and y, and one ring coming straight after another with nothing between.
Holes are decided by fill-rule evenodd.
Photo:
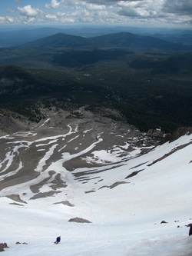
<instances>
[{"instance_id":1,"label":"white snow of the slope and its streaks, excluding bare rock","mask_svg":"<svg viewBox=\"0 0 192 256\"><path fill-rule=\"evenodd\" d=\"M88 149L74 155L66 152L61 161L53 162L36 181L2 189L0 242L7 242L9 246L2 254L191 256L192 236L188 236L187 228L192 222L191 141L192 135L185 135L121 164L115 163L117 155L104 150L94 151L94 157L88 161L100 159L112 164L79 168L72 173L63 168L64 159L83 155ZM94 144L89 147L93 148ZM39 161L37 171L41 172L56 145L51 145L45 158ZM180 145L185 147L176 151ZM168 153L172 154L166 155ZM11 154L7 153L6 161L9 165ZM30 200L34 194L29 186L45 179L52 169L65 177L68 186L60 189L62 193ZM87 183L74 178L74 174L81 171L92 172L86 175ZM127 178L134 171L140 172ZM115 182L120 184L115 186ZM40 191L48 191L48 188L44 185ZM22 195L27 204L5 197L10 191ZM55 204L61 201L69 201L74 207ZM74 217L85 218L91 223L68 221ZM161 224L161 221L167 223ZM58 235L61 235L61 243L54 244Z\"/></svg>"}]
</instances>

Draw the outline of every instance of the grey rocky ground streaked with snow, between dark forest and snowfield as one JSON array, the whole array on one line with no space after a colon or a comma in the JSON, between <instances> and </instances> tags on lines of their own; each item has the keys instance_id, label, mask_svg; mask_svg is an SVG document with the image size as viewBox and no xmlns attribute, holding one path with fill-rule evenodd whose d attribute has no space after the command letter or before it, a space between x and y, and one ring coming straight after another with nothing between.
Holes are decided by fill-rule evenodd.
<instances>
[{"instance_id":1,"label":"grey rocky ground streaked with snow, between dark forest and snowfield","mask_svg":"<svg viewBox=\"0 0 192 256\"><path fill-rule=\"evenodd\" d=\"M113 163L121 165L122 161L150 151L162 137L161 131L144 133L123 118L114 121L84 108L78 109L81 118L54 108L41 111L45 119L37 124L1 110L0 188L12 198L6 188L28 182L34 193L31 199L59 193L59 188L68 186L64 170L79 170L74 178L86 183L91 178L91 168L106 166L108 170ZM45 184L50 191L40 193ZM22 199L18 197L16 201Z\"/></svg>"}]
</instances>

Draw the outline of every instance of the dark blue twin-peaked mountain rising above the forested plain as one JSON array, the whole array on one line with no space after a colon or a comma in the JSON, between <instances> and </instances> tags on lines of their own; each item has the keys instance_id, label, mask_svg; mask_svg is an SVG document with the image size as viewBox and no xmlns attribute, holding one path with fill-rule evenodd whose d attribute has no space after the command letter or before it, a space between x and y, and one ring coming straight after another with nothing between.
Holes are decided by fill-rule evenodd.
<instances>
[{"instance_id":1,"label":"dark blue twin-peaked mountain rising above the forested plain","mask_svg":"<svg viewBox=\"0 0 192 256\"><path fill-rule=\"evenodd\" d=\"M128 32L120 32L101 35L92 38L84 38L75 35L58 33L45 38L26 43L22 47L39 48L156 48L164 50L192 50L192 46L167 42L159 38L146 35L134 35Z\"/></svg>"}]
</instances>

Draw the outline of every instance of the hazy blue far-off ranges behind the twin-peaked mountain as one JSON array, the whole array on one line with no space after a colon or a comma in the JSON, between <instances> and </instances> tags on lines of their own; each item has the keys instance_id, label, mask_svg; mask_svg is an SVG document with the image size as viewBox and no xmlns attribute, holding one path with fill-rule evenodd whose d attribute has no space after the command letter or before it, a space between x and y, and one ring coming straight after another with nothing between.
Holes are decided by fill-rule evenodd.
<instances>
[{"instance_id":1,"label":"hazy blue far-off ranges behind the twin-peaked mountain","mask_svg":"<svg viewBox=\"0 0 192 256\"><path fill-rule=\"evenodd\" d=\"M192 31L190 29L170 29L170 28L144 28L144 27L14 27L0 28L0 47L16 47L27 42L38 40L43 37L65 33L67 35L77 35L86 38L100 35L108 35L119 32L130 32L136 35L149 35L165 41L175 42L182 45L192 45Z\"/></svg>"}]
</instances>

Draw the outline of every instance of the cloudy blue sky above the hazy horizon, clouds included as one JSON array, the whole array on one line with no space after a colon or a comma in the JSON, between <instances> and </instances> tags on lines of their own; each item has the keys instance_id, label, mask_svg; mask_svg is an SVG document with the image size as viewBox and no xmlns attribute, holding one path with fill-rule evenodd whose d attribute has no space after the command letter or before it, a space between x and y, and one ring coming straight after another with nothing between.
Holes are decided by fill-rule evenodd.
<instances>
[{"instance_id":1,"label":"cloudy blue sky above the hazy horizon, clouds included","mask_svg":"<svg viewBox=\"0 0 192 256\"><path fill-rule=\"evenodd\" d=\"M0 0L2 25L192 27L191 0Z\"/></svg>"}]
</instances>

